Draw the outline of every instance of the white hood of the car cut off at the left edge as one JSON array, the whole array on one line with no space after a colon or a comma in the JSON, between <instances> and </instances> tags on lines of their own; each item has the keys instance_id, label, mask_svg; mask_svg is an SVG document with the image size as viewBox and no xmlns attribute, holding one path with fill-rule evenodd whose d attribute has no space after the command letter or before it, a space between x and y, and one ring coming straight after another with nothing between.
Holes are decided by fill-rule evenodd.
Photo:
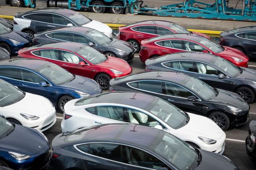
<instances>
[{"instance_id":1,"label":"white hood of the car cut off at the left edge","mask_svg":"<svg viewBox=\"0 0 256 170\"><path fill-rule=\"evenodd\" d=\"M12 105L8 105L4 107L4 109L15 110L15 112L19 110L20 113L43 116L48 114L53 109L53 106L43 96L26 93L26 96L22 100Z\"/></svg>"}]
</instances>

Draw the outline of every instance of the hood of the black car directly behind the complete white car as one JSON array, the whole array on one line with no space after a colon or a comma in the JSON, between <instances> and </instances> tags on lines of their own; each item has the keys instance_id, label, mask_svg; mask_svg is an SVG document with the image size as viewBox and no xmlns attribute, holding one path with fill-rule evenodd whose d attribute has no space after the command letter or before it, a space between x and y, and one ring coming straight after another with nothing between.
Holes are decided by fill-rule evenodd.
<instances>
[{"instance_id":1,"label":"hood of the black car directly behind the complete white car","mask_svg":"<svg viewBox=\"0 0 256 170\"><path fill-rule=\"evenodd\" d=\"M227 90L218 89L219 94L212 99L209 99L211 102L221 103L224 105L231 105L239 109L247 109L249 105L241 98L238 94L230 92Z\"/></svg>"}]
</instances>

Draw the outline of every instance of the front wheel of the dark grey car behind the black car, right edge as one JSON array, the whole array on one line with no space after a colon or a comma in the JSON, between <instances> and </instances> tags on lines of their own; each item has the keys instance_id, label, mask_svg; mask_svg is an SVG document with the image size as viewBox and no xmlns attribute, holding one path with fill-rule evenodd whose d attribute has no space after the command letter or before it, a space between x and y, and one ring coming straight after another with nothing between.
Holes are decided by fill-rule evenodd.
<instances>
[{"instance_id":1,"label":"front wheel of the dark grey car behind the black car, right edge","mask_svg":"<svg viewBox=\"0 0 256 170\"><path fill-rule=\"evenodd\" d=\"M236 94L241 96L249 104L252 103L255 98L253 90L246 86L242 86L236 89Z\"/></svg>"}]
</instances>

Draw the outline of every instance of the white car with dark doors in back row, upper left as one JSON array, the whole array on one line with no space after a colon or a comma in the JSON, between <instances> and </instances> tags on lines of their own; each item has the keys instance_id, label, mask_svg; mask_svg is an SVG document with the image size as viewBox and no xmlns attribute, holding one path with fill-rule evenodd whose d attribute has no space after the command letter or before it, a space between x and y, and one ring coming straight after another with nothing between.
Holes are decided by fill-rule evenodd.
<instances>
[{"instance_id":1,"label":"white car with dark doors in back row, upper left","mask_svg":"<svg viewBox=\"0 0 256 170\"><path fill-rule=\"evenodd\" d=\"M89 27L112 37L112 29L108 25L91 20L70 9L41 8L26 13L18 13L13 18L13 30L27 33L32 39L35 33L63 26ZM61 33L58 36L61 37Z\"/></svg>"}]
</instances>

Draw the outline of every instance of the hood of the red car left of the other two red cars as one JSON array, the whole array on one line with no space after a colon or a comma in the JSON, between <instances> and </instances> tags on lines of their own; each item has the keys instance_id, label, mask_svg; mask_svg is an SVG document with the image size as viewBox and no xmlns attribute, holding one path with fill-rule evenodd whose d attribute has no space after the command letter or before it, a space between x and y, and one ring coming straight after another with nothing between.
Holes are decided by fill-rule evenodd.
<instances>
[{"instance_id":1,"label":"hood of the red car left of the other two red cars","mask_svg":"<svg viewBox=\"0 0 256 170\"><path fill-rule=\"evenodd\" d=\"M97 65L100 67L107 67L109 69L114 69L122 72L131 69L130 65L126 61L116 57L108 57L108 60Z\"/></svg>"}]
</instances>

